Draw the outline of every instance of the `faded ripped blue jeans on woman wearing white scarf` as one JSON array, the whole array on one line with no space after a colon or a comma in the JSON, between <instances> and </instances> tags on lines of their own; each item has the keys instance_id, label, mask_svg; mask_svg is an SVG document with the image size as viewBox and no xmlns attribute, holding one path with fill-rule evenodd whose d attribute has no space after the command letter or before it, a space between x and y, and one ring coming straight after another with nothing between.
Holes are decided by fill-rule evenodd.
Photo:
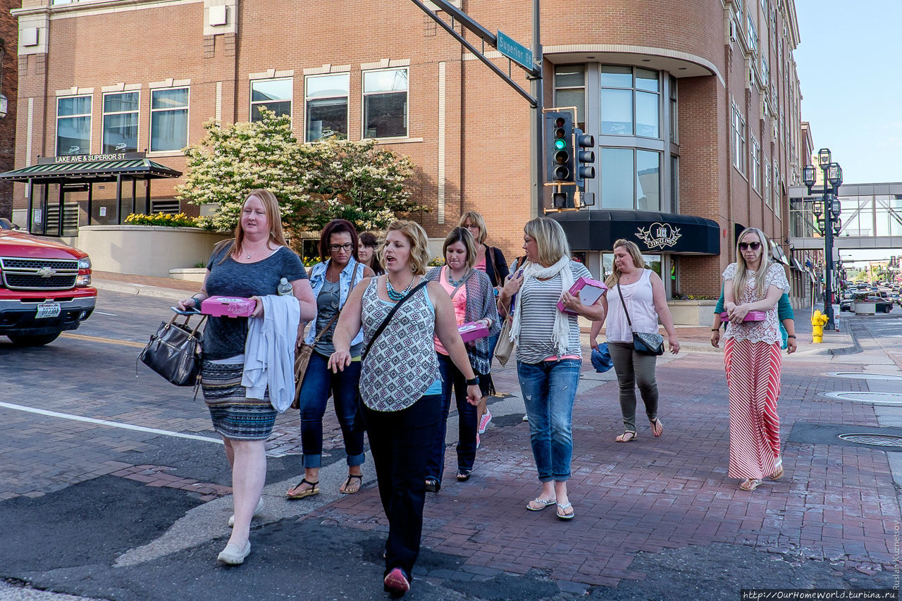
<instances>
[{"instance_id":1,"label":"faded ripped blue jeans on woman wearing white scarf","mask_svg":"<svg viewBox=\"0 0 902 601\"><path fill-rule=\"evenodd\" d=\"M541 482L566 482L570 478L573 401L582 364L579 359L517 362L520 391L529 417L529 440Z\"/></svg>"}]
</instances>

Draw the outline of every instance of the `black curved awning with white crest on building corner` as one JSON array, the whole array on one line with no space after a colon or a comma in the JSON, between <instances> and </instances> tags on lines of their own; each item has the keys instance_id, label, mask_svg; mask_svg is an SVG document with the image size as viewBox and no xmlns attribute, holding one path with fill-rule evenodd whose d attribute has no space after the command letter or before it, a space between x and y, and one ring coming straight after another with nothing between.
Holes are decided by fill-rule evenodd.
<instances>
[{"instance_id":1,"label":"black curved awning with white crest on building corner","mask_svg":"<svg viewBox=\"0 0 902 601\"><path fill-rule=\"evenodd\" d=\"M632 210L551 213L574 250L612 251L624 238L649 254L721 254L721 227L694 215Z\"/></svg>"}]
</instances>

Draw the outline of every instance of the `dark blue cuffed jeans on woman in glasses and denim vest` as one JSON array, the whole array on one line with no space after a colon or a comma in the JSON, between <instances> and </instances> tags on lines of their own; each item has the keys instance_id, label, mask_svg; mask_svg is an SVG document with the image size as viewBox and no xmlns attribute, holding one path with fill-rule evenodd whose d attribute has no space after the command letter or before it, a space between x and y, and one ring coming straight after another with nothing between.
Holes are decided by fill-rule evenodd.
<instances>
[{"instance_id":1,"label":"dark blue cuffed jeans on woman in glasses and denim vest","mask_svg":"<svg viewBox=\"0 0 902 601\"><path fill-rule=\"evenodd\" d=\"M310 355L304 383L300 386L300 444L304 467L320 467L323 456L323 415L329 392L335 397L336 415L345 439L348 466L364 463L364 431L354 431L360 361L352 361L345 371L333 374L328 357L314 351Z\"/></svg>"}]
</instances>

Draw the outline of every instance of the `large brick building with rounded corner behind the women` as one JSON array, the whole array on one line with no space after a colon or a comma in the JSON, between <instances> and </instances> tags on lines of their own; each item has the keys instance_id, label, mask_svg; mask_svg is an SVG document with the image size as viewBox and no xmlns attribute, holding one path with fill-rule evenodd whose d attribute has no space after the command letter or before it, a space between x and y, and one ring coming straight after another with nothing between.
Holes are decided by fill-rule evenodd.
<instances>
[{"instance_id":1,"label":"large brick building with rounded corner behind the women","mask_svg":"<svg viewBox=\"0 0 902 601\"><path fill-rule=\"evenodd\" d=\"M529 0L503 11L456 4L529 42ZM783 246L786 190L804 156L793 0L547 0L542 9L545 106L576 106L597 144L594 207L552 215L594 273L610 263L613 238L629 236L671 274L673 295L715 296L742 227ZM39 155L146 149L184 171L180 149L204 122L246 121L268 106L292 116L299 139L374 137L410 155L431 208L416 218L435 238L476 209L490 243L513 256L538 213L528 104L412 3L24 0L14 14L17 167ZM512 77L529 89L521 71ZM179 208L178 183L155 184L153 207ZM68 199L84 222L85 199ZM17 213L40 206L17 184Z\"/></svg>"}]
</instances>

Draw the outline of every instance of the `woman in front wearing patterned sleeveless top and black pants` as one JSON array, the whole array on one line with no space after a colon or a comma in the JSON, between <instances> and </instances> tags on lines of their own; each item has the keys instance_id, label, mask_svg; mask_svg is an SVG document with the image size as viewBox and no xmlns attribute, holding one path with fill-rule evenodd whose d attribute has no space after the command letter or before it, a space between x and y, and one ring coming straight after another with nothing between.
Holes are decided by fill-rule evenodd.
<instances>
[{"instance_id":1,"label":"woman in front wearing patterned sleeveless top and black pants","mask_svg":"<svg viewBox=\"0 0 902 601\"><path fill-rule=\"evenodd\" d=\"M467 400L475 405L482 393L447 292L438 282L418 289L429 260L426 232L412 221L391 222L381 255L385 275L364 279L345 303L329 366L341 371L350 365L351 338L363 326L364 425L389 519L384 586L397 596L410 589L410 571L419 555L426 462L438 431L442 383L433 337L464 374ZM391 316L391 324L373 341L392 306L402 299L406 301Z\"/></svg>"}]
</instances>

